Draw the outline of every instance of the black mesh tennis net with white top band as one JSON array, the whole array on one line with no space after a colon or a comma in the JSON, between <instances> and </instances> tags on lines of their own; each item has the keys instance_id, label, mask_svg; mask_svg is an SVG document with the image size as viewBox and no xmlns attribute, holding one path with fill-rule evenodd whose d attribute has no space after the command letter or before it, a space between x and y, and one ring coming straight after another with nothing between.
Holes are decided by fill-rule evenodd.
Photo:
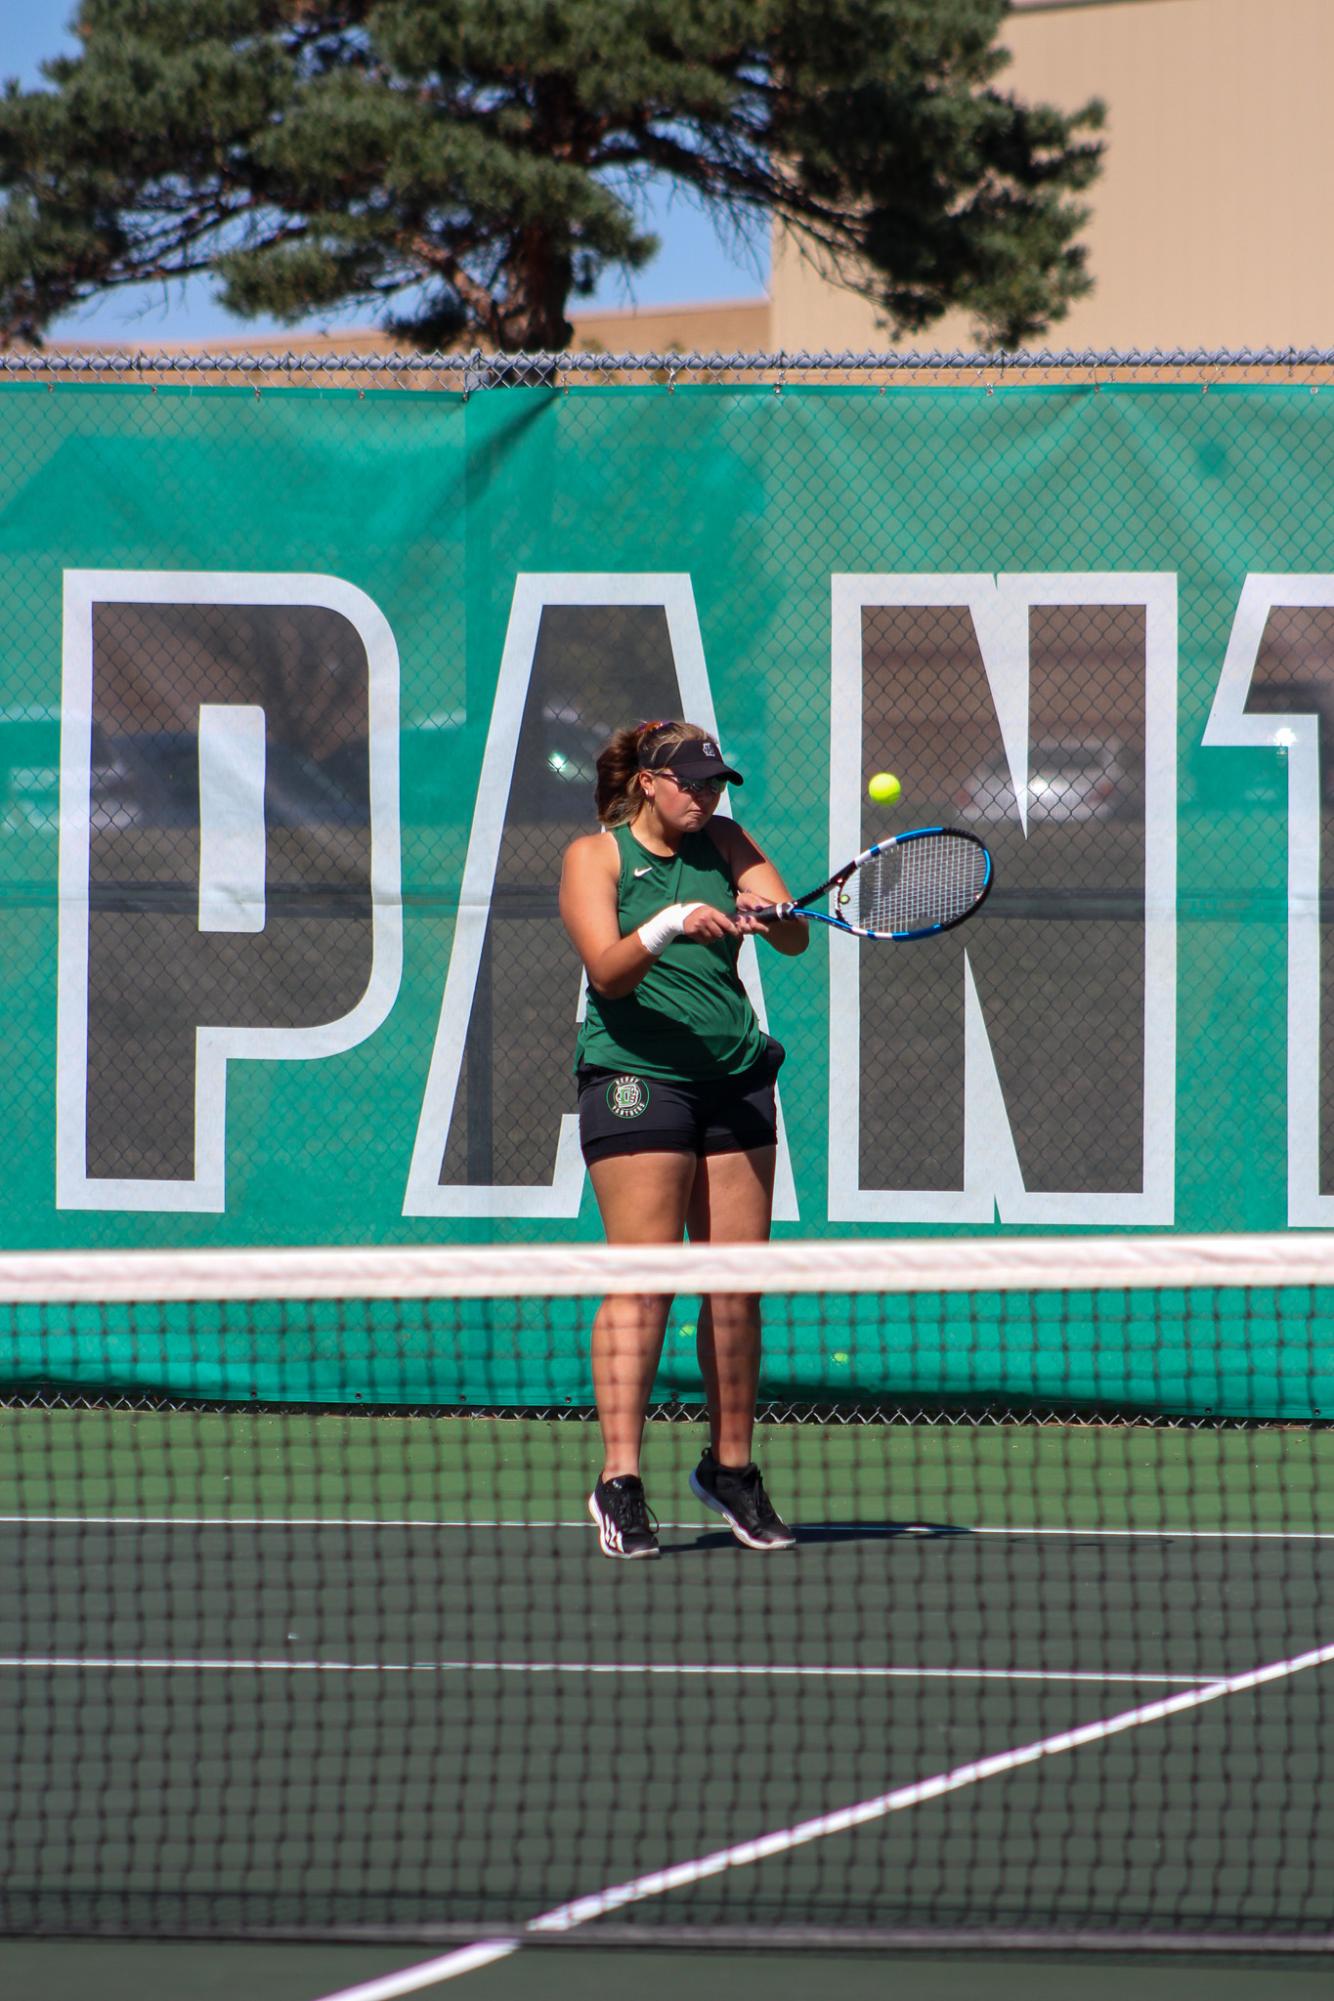
<instances>
[{"instance_id":1,"label":"black mesh tennis net with white top band","mask_svg":"<svg viewBox=\"0 0 1334 2001\"><path fill-rule=\"evenodd\" d=\"M588 1519L604 1293L674 1297L656 1563ZM716 1293L790 1551L690 1491ZM1334 1241L10 1255L0 1301L8 1933L1334 1949Z\"/></svg>"}]
</instances>

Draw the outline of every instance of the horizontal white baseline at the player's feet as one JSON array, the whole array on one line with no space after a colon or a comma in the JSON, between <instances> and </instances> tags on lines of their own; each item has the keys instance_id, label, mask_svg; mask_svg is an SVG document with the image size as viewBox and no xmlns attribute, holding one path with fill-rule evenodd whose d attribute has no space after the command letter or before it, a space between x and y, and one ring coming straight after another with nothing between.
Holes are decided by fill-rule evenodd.
<instances>
[{"instance_id":1,"label":"horizontal white baseline at the player's feet","mask_svg":"<svg viewBox=\"0 0 1334 2001\"><path fill-rule=\"evenodd\" d=\"M592 1535L588 1517L574 1517L572 1521L532 1521L532 1519L464 1519L464 1517L432 1517L432 1515L0 1515L0 1527L46 1527L46 1529L578 1529L580 1535ZM708 1533L722 1533L716 1525L704 1519L696 1521L664 1521L658 1523L660 1529L694 1529ZM840 1529L858 1531L868 1529L880 1535L916 1535L930 1539L932 1535L1100 1535L1100 1537L1144 1537L1148 1541L1166 1541L1174 1537L1178 1541L1194 1539L1198 1543L1334 1543L1334 1529L1102 1529L1088 1525L1050 1529L1042 1525L1020 1523L1006 1527L1004 1523L894 1523L894 1521L832 1521L832 1523L798 1523L798 1541L802 1527L814 1531L810 1541L818 1541L820 1529Z\"/></svg>"}]
</instances>

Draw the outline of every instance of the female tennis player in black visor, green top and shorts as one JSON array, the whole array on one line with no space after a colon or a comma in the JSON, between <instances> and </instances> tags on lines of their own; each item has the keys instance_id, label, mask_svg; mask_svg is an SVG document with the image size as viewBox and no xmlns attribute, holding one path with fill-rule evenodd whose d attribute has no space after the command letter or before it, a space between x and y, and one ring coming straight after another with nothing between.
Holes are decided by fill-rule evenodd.
<instances>
[{"instance_id":1,"label":"female tennis player in black visor, green top and shorts","mask_svg":"<svg viewBox=\"0 0 1334 2001\"><path fill-rule=\"evenodd\" d=\"M608 1243L760 1243L774 1197L774 1079L784 1059L736 972L746 932L804 952L800 920L758 922L788 896L774 864L730 818L726 780L694 722L618 730L598 756L602 832L570 842L560 914L588 972L578 1037L580 1141ZM670 1299L606 1299L592 1327L604 1463L588 1513L608 1557L656 1557L640 1479ZM700 1307L698 1357L710 1447L690 1475L746 1549L790 1549L750 1459L760 1307L714 1293Z\"/></svg>"}]
</instances>

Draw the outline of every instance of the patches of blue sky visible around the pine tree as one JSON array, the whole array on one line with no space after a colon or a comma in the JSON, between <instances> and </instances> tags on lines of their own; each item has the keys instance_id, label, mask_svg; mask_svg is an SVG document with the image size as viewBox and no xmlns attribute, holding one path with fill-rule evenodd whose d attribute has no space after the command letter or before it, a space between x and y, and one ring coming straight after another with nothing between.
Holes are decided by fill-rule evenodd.
<instances>
[{"instance_id":1,"label":"patches of blue sky visible around the pine tree","mask_svg":"<svg viewBox=\"0 0 1334 2001\"><path fill-rule=\"evenodd\" d=\"M0 78L16 76L24 88L42 82L38 64L46 56L76 48L68 22L76 0L0 0ZM674 306L704 304L716 298L758 298L768 282L768 244L756 242L746 254L720 242L708 216L674 194L670 182L654 180L644 190L644 220L662 238L656 260L636 274L634 284L620 276L604 278L596 296L580 302L580 310L608 306ZM286 332L316 330L328 316L302 322ZM356 324L338 320L340 326ZM48 330L56 340L222 340L278 332L264 320L238 320L224 312L212 296L208 278L186 284L136 286L112 292L84 306Z\"/></svg>"}]
</instances>

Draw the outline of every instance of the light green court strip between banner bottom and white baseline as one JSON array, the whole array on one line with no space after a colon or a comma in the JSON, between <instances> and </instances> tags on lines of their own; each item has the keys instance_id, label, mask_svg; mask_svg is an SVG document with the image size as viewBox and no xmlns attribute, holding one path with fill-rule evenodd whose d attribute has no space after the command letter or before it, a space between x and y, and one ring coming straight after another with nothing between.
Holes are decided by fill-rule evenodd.
<instances>
[{"instance_id":1,"label":"light green court strip between banner bottom and white baseline","mask_svg":"<svg viewBox=\"0 0 1334 2001\"><path fill-rule=\"evenodd\" d=\"M448 1517L588 1521L596 1427L368 1413L10 1409L0 1515ZM652 1425L646 1479L664 1521L708 1517L686 1491L700 1427ZM762 1423L770 1485L818 1523L1046 1529L1256 1529L1334 1535L1334 1431L1152 1425ZM426 1509L426 1513L424 1513Z\"/></svg>"}]
</instances>

